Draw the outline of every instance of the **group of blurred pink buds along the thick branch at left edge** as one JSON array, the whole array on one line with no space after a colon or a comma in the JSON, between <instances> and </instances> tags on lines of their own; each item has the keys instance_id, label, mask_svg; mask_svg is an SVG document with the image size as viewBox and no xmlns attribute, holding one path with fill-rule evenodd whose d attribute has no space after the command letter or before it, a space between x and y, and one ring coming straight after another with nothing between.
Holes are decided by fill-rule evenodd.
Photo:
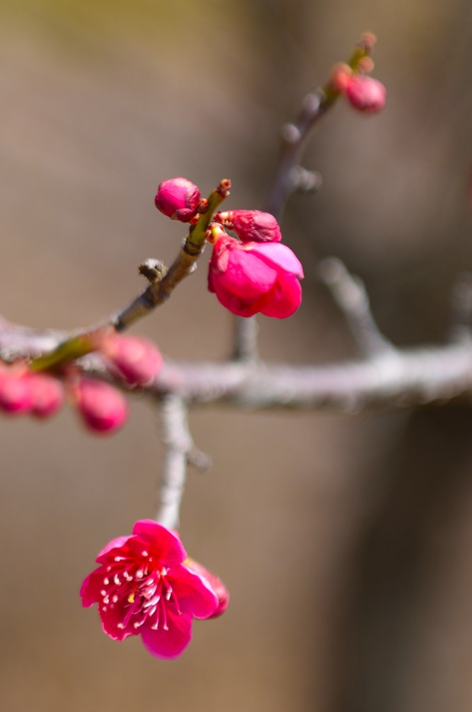
<instances>
[{"instance_id":1,"label":"group of blurred pink buds along the thick branch at left edge","mask_svg":"<svg viewBox=\"0 0 472 712\"><path fill-rule=\"evenodd\" d=\"M149 341L115 333L100 337L97 351L110 373L127 387L150 383L162 367L162 356ZM48 418L63 406L65 391L83 424L97 434L112 434L125 424L128 405L115 386L84 377L74 365L54 374L31 370L26 362L0 363L0 411Z\"/></svg>"}]
</instances>

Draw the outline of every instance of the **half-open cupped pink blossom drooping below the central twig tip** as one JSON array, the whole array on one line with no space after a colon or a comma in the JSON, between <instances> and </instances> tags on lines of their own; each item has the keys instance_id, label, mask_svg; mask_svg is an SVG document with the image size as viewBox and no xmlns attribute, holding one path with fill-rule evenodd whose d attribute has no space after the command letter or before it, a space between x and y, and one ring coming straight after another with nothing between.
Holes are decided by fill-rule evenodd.
<instances>
[{"instance_id":1,"label":"half-open cupped pink blossom drooping below the central twig tip","mask_svg":"<svg viewBox=\"0 0 472 712\"><path fill-rule=\"evenodd\" d=\"M303 267L280 242L239 242L215 232L208 288L238 316L258 312L278 319L293 314L302 300Z\"/></svg>"}]
</instances>

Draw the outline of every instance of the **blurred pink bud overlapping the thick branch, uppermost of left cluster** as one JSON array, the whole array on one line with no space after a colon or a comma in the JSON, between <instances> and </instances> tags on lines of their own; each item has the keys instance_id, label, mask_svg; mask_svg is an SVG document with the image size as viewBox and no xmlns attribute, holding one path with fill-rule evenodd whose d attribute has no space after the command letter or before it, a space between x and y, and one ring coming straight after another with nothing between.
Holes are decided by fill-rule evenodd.
<instances>
[{"instance_id":1,"label":"blurred pink bud overlapping the thick branch, uppermost of left cluster","mask_svg":"<svg viewBox=\"0 0 472 712\"><path fill-rule=\"evenodd\" d=\"M140 337L112 335L105 339L100 352L129 384L149 383L162 368L157 347Z\"/></svg>"}]
</instances>

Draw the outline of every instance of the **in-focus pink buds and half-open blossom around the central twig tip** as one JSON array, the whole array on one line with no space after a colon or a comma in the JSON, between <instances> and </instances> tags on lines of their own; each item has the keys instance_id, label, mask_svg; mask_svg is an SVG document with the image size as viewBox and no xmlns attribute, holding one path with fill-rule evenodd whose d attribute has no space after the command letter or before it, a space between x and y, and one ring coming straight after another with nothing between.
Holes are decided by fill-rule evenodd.
<instances>
[{"instance_id":1,"label":"in-focus pink buds and half-open blossom around the central twig tip","mask_svg":"<svg viewBox=\"0 0 472 712\"><path fill-rule=\"evenodd\" d=\"M208 201L201 201L199 189L187 179L173 178L159 185L155 203L164 215L194 221ZM219 212L206 239L214 244L208 288L226 309L243 317L262 313L279 319L298 309L303 267L293 251L280 244L282 235L273 215L258 210Z\"/></svg>"}]
</instances>

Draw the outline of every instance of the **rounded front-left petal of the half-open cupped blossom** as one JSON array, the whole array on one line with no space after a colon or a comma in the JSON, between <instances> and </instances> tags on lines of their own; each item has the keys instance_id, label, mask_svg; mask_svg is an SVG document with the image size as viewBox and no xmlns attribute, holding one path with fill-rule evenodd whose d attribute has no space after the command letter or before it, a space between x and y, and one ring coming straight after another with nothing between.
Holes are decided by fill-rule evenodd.
<instances>
[{"instance_id":1,"label":"rounded front-left petal of the half-open cupped blossom","mask_svg":"<svg viewBox=\"0 0 472 712\"><path fill-rule=\"evenodd\" d=\"M245 251L243 247L233 248L224 272L213 272L213 286L218 293L218 285L231 291L235 296L252 300L268 292L276 283L277 271L266 260Z\"/></svg>"}]
</instances>

